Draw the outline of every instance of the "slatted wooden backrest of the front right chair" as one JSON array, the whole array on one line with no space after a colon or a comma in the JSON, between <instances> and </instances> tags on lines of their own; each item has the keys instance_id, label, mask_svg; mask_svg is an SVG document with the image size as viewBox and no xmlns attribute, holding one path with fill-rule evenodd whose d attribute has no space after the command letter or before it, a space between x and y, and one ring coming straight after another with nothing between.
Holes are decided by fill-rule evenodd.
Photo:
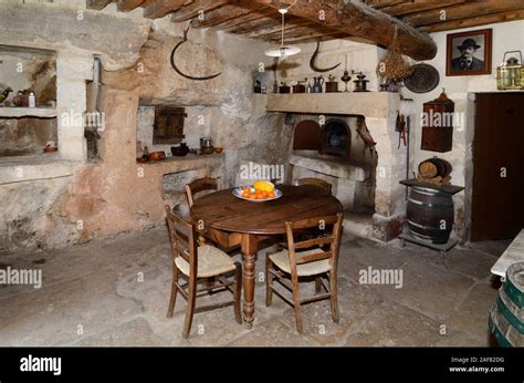
<instances>
[{"instance_id":1,"label":"slatted wooden backrest of the front right chair","mask_svg":"<svg viewBox=\"0 0 524 383\"><path fill-rule=\"evenodd\" d=\"M343 215L338 213L336 216L326 216L326 217L316 217L301 219L296 221L286 221L285 230L287 237L287 249L290 255L290 266L292 275L297 275L296 266L304 265L308 262L318 261L322 259L328 259L332 267L336 267L337 257L338 257L338 247L340 242L342 234L342 220ZM294 236L297 231L303 231L304 229L313 229L318 227L331 228L331 231L327 236L307 239L300 242L295 242ZM327 231L327 230L326 230ZM305 249L314 246L329 245L327 251L318 249L318 252L314 252L306 256L301 256L301 252L296 252L297 249Z\"/></svg>"}]
</instances>

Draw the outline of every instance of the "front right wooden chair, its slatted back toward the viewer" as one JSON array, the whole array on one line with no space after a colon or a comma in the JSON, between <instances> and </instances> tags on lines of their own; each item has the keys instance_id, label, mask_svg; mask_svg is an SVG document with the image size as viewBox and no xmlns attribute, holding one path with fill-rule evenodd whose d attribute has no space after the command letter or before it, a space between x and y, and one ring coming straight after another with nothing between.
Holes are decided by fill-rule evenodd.
<instances>
[{"instance_id":1,"label":"front right wooden chair, its slatted back toward the viewer","mask_svg":"<svg viewBox=\"0 0 524 383\"><path fill-rule=\"evenodd\" d=\"M287 236L287 249L268 255L265 259L266 290L265 306L271 306L273 292L282 298L285 302L294 307L296 330L302 333L301 304L310 303L318 300L329 299L332 307L333 320L338 323L338 304L337 304L337 258L338 247L340 244L343 215L302 219L294 222L285 222ZM313 239L306 239L295 242L294 235L296 230L318 227L333 227L329 235ZM328 246L325 251L321 247ZM291 276L291 283L290 278ZM324 284L322 277L327 276L329 287ZM302 277L315 278L315 296L301 299L298 289L298 279ZM273 287L273 279L293 293L293 298L289 299ZM322 289L325 290L322 293Z\"/></svg>"}]
</instances>

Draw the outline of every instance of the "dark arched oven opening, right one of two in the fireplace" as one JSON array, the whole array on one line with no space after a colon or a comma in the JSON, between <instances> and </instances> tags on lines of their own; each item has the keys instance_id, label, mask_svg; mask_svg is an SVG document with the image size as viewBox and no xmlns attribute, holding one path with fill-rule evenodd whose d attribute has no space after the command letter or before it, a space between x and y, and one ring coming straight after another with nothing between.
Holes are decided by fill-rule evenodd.
<instances>
[{"instance_id":1,"label":"dark arched oven opening, right one of two in the fireplace","mask_svg":"<svg viewBox=\"0 0 524 383\"><path fill-rule=\"evenodd\" d=\"M347 159L350 158L352 131L343 120L327 120L321 132L319 153L337 155Z\"/></svg>"}]
</instances>

